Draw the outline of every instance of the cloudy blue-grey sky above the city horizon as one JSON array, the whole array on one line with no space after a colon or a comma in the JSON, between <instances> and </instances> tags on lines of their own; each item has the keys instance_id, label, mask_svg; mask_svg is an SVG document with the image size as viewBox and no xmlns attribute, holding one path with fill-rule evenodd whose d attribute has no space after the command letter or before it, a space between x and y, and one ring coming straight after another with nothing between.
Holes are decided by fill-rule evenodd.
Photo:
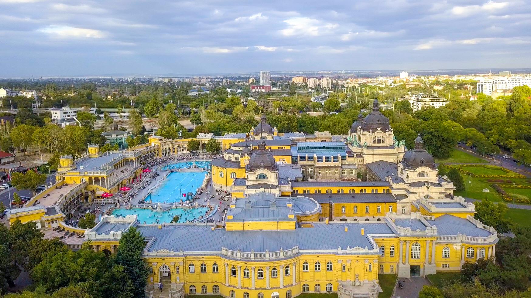
<instances>
[{"instance_id":1,"label":"cloudy blue-grey sky above the city horizon","mask_svg":"<svg viewBox=\"0 0 531 298\"><path fill-rule=\"evenodd\" d=\"M0 77L498 67L529 0L0 0Z\"/></svg>"}]
</instances>

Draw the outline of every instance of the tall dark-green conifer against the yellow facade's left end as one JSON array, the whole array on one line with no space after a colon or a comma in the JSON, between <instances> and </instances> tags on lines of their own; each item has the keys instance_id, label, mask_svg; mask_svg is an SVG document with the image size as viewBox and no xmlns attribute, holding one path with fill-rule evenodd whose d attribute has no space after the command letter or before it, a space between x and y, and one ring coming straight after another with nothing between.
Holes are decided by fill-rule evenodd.
<instances>
[{"instance_id":1,"label":"tall dark-green conifer against the yellow facade's left end","mask_svg":"<svg viewBox=\"0 0 531 298\"><path fill-rule=\"evenodd\" d=\"M124 266L125 272L134 285L134 297L143 298L144 288L148 278L148 267L142 260L144 236L136 227L131 227L122 234L116 253L116 262Z\"/></svg>"}]
</instances>

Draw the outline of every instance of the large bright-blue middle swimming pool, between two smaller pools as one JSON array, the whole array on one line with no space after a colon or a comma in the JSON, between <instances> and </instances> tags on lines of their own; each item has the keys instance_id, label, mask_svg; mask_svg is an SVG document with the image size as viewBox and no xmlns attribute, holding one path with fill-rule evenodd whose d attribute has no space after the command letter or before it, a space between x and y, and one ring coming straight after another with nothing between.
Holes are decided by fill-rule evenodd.
<instances>
[{"instance_id":1,"label":"large bright-blue middle swimming pool, between two smaller pools","mask_svg":"<svg viewBox=\"0 0 531 298\"><path fill-rule=\"evenodd\" d=\"M171 204L182 201L182 194L193 192L203 184L207 172L172 172L160 185L151 190L145 200L153 203Z\"/></svg>"}]
</instances>

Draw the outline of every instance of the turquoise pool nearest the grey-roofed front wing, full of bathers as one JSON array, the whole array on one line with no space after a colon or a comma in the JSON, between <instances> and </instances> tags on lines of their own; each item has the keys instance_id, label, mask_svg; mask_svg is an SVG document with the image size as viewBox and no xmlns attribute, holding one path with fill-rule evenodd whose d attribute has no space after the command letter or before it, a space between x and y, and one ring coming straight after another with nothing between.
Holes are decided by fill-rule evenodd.
<instances>
[{"instance_id":1,"label":"turquoise pool nearest the grey-roofed front wing, full of bathers","mask_svg":"<svg viewBox=\"0 0 531 298\"><path fill-rule=\"evenodd\" d=\"M150 208L114 209L114 216L138 215L141 224L170 223L174 215L179 216L179 223L191 222L207 214L208 207L182 208L174 207L168 211L155 211Z\"/></svg>"}]
</instances>

